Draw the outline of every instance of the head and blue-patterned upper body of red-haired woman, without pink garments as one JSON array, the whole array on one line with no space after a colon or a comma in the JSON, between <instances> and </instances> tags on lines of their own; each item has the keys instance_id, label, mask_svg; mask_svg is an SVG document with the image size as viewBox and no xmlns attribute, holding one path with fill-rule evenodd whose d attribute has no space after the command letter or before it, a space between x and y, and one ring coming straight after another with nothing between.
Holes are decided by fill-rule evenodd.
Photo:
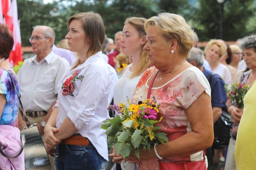
<instances>
[{"instance_id":1,"label":"head and blue-patterned upper body of red-haired woman, without pink garments","mask_svg":"<svg viewBox=\"0 0 256 170\"><path fill-rule=\"evenodd\" d=\"M19 84L15 72L7 60L13 47L13 35L5 24L0 24L0 125L11 125L18 127L18 97L12 84L12 75L16 89L19 93Z\"/></svg>"}]
</instances>

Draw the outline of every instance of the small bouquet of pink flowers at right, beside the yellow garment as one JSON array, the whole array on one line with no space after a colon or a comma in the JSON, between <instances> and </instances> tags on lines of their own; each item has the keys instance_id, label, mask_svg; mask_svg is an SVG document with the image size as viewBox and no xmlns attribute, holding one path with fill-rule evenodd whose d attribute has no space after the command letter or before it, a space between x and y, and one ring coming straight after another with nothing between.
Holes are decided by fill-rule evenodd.
<instances>
[{"instance_id":1,"label":"small bouquet of pink flowers at right, beside the yellow garment","mask_svg":"<svg viewBox=\"0 0 256 170\"><path fill-rule=\"evenodd\" d=\"M234 101L238 108L243 109L244 96L249 89L250 89L250 86L239 82L237 84L232 84L230 89L226 88L226 91L229 94L230 100Z\"/></svg>"}]
</instances>

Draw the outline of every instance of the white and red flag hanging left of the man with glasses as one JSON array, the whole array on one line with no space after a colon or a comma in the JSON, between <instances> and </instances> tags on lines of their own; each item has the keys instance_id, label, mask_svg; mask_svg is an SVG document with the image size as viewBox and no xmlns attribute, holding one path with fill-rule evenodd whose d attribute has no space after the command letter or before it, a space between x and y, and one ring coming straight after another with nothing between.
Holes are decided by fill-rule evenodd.
<instances>
[{"instance_id":1,"label":"white and red flag hanging left of the man with glasses","mask_svg":"<svg viewBox=\"0 0 256 170\"><path fill-rule=\"evenodd\" d=\"M17 9L16 0L12 0L10 9L5 17L5 22L8 25L9 29L13 32L13 39L14 39L14 46L10 54L9 62L13 64L13 66L18 65L19 61L23 61L23 57L22 57L22 49L21 49L22 46L21 46L18 9Z\"/></svg>"}]
</instances>

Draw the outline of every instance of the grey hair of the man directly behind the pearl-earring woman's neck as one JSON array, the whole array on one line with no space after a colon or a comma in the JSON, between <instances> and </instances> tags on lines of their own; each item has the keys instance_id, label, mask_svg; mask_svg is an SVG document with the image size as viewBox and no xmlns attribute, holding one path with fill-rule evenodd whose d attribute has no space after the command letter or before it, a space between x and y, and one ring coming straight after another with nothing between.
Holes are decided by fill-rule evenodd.
<instances>
[{"instance_id":1,"label":"grey hair of the man directly behind the pearl-earring woman's neck","mask_svg":"<svg viewBox=\"0 0 256 170\"><path fill-rule=\"evenodd\" d=\"M200 48L192 47L189 51L189 57L187 57L186 60L189 63L195 61L197 63L197 67L202 67L204 61L203 51Z\"/></svg>"}]
</instances>

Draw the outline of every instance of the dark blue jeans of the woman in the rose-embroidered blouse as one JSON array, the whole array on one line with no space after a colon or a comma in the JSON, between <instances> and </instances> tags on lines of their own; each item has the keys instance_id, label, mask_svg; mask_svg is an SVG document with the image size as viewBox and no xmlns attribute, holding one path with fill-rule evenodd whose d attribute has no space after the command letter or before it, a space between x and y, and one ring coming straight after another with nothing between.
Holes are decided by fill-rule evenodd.
<instances>
[{"instance_id":1,"label":"dark blue jeans of the woman in the rose-embroidered blouse","mask_svg":"<svg viewBox=\"0 0 256 170\"><path fill-rule=\"evenodd\" d=\"M57 147L59 158L55 158L56 170L100 170L104 169L104 159L89 141L88 146L63 145Z\"/></svg>"}]
</instances>

